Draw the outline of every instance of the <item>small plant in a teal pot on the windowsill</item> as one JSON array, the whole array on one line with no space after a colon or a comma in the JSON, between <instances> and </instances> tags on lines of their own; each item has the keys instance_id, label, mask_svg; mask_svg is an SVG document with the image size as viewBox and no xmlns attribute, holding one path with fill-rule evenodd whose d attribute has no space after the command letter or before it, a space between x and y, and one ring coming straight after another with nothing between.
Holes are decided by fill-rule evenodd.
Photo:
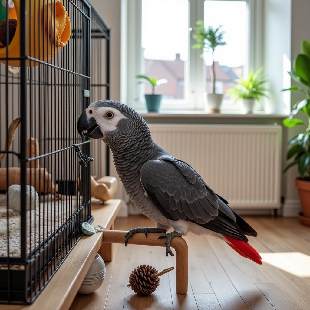
<instances>
[{"instance_id":1,"label":"small plant in a teal pot on the windowsill","mask_svg":"<svg viewBox=\"0 0 310 310\"><path fill-rule=\"evenodd\" d=\"M155 95L155 88L161 84L167 83L165 78L158 80L157 78L150 78L147 75L137 75L136 78L140 79L139 84L145 83L152 87L151 95L144 95L146 107L148 112L158 112L162 101L162 95Z\"/></svg>"}]
</instances>

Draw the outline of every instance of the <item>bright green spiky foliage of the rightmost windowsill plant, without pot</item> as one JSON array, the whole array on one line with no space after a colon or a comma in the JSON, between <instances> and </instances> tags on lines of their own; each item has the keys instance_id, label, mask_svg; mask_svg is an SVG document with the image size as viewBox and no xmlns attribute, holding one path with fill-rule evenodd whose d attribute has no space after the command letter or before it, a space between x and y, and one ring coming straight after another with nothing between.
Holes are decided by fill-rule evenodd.
<instances>
[{"instance_id":1,"label":"bright green spiky foliage of the rightmost windowsill plant, without pot","mask_svg":"<svg viewBox=\"0 0 310 310\"><path fill-rule=\"evenodd\" d=\"M245 79L241 76L235 82L237 85L228 89L227 94L232 96L236 102L239 99L254 99L260 101L267 96L265 88L266 79L259 75L263 71L263 67L258 69L255 73L251 69L248 77Z\"/></svg>"}]
</instances>

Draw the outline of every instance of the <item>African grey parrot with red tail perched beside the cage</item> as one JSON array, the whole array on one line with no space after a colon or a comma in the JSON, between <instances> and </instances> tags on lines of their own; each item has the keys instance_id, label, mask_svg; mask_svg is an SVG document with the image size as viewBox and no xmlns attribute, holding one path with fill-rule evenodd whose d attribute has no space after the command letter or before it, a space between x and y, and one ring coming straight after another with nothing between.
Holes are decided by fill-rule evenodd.
<instances>
[{"instance_id":1,"label":"African grey parrot with red tail perched beside the cage","mask_svg":"<svg viewBox=\"0 0 310 310\"><path fill-rule=\"evenodd\" d=\"M191 166L159 147L135 110L116 101L96 101L80 115L77 127L82 137L108 144L126 193L157 223L157 228L129 230L126 246L136 232L164 233L159 238L166 238L166 255L173 256L171 239L191 231L222 239L240 255L262 263L245 236L256 237L255 230ZM166 233L171 227L174 231Z\"/></svg>"}]
</instances>

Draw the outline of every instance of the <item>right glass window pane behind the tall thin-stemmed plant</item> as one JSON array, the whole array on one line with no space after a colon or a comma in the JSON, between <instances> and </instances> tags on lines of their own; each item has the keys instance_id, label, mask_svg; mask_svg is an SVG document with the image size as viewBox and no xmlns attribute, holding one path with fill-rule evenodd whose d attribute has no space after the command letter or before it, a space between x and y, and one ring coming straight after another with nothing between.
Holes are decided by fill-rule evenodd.
<instances>
[{"instance_id":1,"label":"right glass window pane behind the tall thin-stemmed plant","mask_svg":"<svg viewBox=\"0 0 310 310\"><path fill-rule=\"evenodd\" d=\"M206 0L204 2L205 27L213 28L222 25L224 42L214 52L215 92L225 94L228 88L235 85L238 75L246 74L248 63L248 8L246 1ZM206 91L211 92L210 66L212 55L204 53L206 72ZM229 99L225 96L224 99Z\"/></svg>"}]
</instances>

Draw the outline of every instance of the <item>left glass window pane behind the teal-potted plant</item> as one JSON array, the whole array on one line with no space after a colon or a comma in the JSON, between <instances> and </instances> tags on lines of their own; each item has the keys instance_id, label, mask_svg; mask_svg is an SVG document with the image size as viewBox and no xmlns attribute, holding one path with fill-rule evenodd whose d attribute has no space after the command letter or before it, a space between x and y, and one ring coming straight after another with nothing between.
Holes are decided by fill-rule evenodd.
<instances>
[{"instance_id":1,"label":"left glass window pane behind the teal-potted plant","mask_svg":"<svg viewBox=\"0 0 310 310\"><path fill-rule=\"evenodd\" d=\"M144 73L167 84L156 93L165 99L184 99L185 62L188 59L188 0L142 0ZM144 87L149 94L151 88Z\"/></svg>"}]
</instances>

